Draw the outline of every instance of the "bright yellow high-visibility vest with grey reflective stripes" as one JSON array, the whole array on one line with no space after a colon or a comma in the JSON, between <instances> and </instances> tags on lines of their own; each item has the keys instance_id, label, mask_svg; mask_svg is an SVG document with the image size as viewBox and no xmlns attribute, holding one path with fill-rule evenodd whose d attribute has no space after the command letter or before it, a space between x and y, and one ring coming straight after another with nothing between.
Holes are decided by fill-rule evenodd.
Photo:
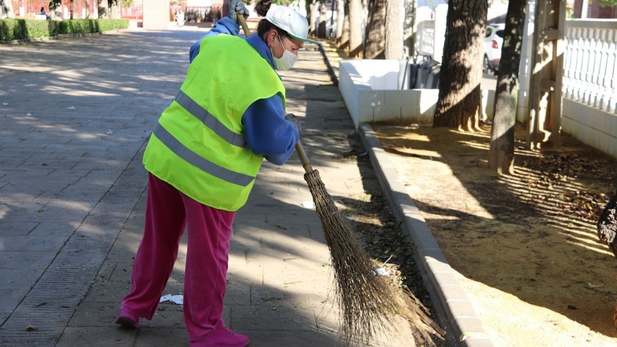
<instances>
[{"instance_id":1,"label":"bright yellow high-visibility vest with grey reflective stripes","mask_svg":"<svg viewBox=\"0 0 617 347\"><path fill-rule=\"evenodd\" d=\"M285 107L281 79L249 43L231 35L204 38L147 144L146 170L199 203L236 211L263 161L246 146L242 115L276 94Z\"/></svg>"}]
</instances>

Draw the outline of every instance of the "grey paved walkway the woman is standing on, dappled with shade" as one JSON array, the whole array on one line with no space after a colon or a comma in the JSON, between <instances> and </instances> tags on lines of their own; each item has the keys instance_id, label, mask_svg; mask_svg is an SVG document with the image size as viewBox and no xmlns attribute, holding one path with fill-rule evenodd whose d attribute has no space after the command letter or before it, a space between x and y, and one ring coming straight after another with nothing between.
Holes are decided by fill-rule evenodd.
<instances>
[{"instance_id":1,"label":"grey paved walkway the woman is standing on, dappled with shade","mask_svg":"<svg viewBox=\"0 0 617 347\"><path fill-rule=\"evenodd\" d=\"M138 330L113 321L143 232L144 145L204 33L0 45L0 345L188 345L175 304L160 304ZM376 178L337 159L362 145L349 136L356 132L316 46L282 75L288 112L302 120L329 193L362 196ZM302 207L311 200L303 174L296 156L265 163L236 214L224 319L251 346L336 345L329 253L315 211ZM165 294L181 293L185 245ZM373 345L413 346L400 328Z\"/></svg>"}]
</instances>

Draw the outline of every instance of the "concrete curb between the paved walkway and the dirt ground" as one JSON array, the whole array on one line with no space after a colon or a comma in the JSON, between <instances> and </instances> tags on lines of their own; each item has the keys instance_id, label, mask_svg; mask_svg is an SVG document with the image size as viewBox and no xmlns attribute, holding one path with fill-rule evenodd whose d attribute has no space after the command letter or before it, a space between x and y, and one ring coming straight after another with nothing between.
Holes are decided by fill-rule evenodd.
<instances>
[{"instance_id":1,"label":"concrete curb between the paved walkway and the dirt ground","mask_svg":"<svg viewBox=\"0 0 617 347\"><path fill-rule=\"evenodd\" d=\"M328 74L337 83L338 78L323 45L319 46L319 50L328 66ZM407 193L405 185L400 181L373 128L366 123L360 123L358 133L370 155L371 164L394 217L400 222L407 240L415 245L414 259L431 295L437 320L447 332L448 344L467 347L494 346L482 320L458 282L456 272L439 249L437 240Z\"/></svg>"}]
</instances>

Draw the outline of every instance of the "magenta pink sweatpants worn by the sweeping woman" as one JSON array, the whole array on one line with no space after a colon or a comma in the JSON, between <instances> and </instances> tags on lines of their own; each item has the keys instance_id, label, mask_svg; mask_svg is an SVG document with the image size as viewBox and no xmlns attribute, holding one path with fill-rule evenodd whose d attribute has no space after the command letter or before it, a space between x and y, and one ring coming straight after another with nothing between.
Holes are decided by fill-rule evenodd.
<instances>
[{"instance_id":1,"label":"magenta pink sweatpants worn by the sweeping woman","mask_svg":"<svg viewBox=\"0 0 617 347\"><path fill-rule=\"evenodd\" d=\"M152 319L188 227L183 311L189 339L202 340L213 329L224 327L223 296L234 215L198 203L149 174L146 227L122 310Z\"/></svg>"}]
</instances>

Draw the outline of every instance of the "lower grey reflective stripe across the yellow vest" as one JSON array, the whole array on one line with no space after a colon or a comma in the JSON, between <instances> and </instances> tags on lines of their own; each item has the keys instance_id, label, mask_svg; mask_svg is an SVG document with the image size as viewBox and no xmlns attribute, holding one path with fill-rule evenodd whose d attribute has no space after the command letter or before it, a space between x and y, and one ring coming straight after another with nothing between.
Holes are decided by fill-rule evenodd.
<instances>
[{"instance_id":1,"label":"lower grey reflective stripe across the yellow vest","mask_svg":"<svg viewBox=\"0 0 617 347\"><path fill-rule=\"evenodd\" d=\"M199 154L191 151L191 149L186 148L184 144L176 140L176 138L173 137L173 135L170 134L167 130L165 130L165 128L162 127L160 124L157 125L157 127L154 129L154 136L156 136L159 141L165 144L167 148L171 149L172 152L176 154L176 156L181 157L185 161L191 163L196 167L199 167L199 169L204 170L205 172L214 177L220 178L229 183L234 183L239 186L247 186L255 179L255 177L225 169L225 167L214 164L208 159L199 156Z\"/></svg>"}]
</instances>

